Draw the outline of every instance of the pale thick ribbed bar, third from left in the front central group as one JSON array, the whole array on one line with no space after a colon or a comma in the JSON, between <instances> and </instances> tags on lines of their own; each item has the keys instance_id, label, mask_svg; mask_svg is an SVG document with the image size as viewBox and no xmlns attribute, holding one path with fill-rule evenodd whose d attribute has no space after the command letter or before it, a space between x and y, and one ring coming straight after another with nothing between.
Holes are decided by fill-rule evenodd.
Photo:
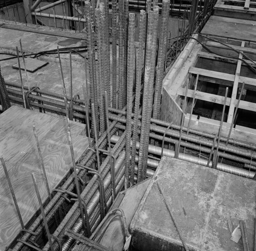
<instances>
[{"instance_id":1,"label":"pale thick ribbed bar, third from left in the front central group","mask_svg":"<svg viewBox=\"0 0 256 251\"><path fill-rule=\"evenodd\" d=\"M147 121L147 106L149 98L149 82L151 72L151 60L153 50L153 35L154 35L154 11L148 11L147 19L147 38L146 38L146 57L145 57L145 72L144 72L144 89L143 89L143 104L142 104L142 120L139 148L139 163L138 163L138 182L143 178L143 156L145 152L146 142L146 121Z\"/></svg>"}]
</instances>

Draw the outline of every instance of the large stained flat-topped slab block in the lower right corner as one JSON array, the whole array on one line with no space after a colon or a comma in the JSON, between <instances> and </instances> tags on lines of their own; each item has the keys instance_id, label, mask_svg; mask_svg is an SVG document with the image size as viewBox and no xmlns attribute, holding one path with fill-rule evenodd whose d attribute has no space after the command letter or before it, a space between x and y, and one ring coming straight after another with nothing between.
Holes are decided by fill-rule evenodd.
<instances>
[{"instance_id":1,"label":"large stained flat-topped slab block in the lower right corner","mask_svg":"<svg viewBox=\"0 0 256 251\"><path fill-rule=\"evenodd\" d=\"M243 250L230 240L233 229L246 222L253 248L255 181L200 165L163 157L131 222L135 250L183 250L157 182L189 250Z\"/></svg>"}]
</instances>

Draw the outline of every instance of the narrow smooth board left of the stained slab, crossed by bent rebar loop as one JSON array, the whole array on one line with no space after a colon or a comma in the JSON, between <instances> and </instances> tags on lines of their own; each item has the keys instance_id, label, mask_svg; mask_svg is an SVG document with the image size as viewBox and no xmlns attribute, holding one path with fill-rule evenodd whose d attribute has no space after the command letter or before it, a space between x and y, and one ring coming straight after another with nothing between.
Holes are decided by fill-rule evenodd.
<instances>
[{"instance_id":1,"label":"narrow smooth board left of the stained slab, crossed by bent rebar loop","mask_svg":"<svg viewBox=\"0 0 256 251\"><path fill-rule=\"evenodd\" d=\"M118 203L116 206L123 210L128 228L150 181L151 179L147 179L119 193L123 194L124 196L121 200L121 203ZM112 207L112 209L117 207ZM123 250L124 242L125 233L121 218L116 217L112 220L108 229L106 229L99 243L105 247L110 248L111 250L121 251Z\"/></svg>"}]
</instances>

